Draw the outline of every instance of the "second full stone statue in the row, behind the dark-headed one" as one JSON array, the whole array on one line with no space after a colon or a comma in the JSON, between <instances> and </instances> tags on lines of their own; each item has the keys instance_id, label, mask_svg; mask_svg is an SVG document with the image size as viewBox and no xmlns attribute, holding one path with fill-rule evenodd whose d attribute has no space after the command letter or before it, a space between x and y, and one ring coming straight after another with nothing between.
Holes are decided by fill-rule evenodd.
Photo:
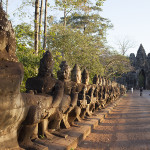
<instances>
[{"instance_id":1,"label":"second full stone statue in the row, behind the dark-headed one","mask_svg":"<svg viewBox=\"0 0 150 150\"><path fill-rule=\"evenodd\" d=\"M67 125L67 122L69 122L70 125L75 125L74 120L77 119L80 121L80 107L77 106L77 100L78 100L78 92L77 84L75 82L72 82L70 80L70 67L68 66L66 61L62 61L60 64L60 70L57 72L57 77L59 80L61 80L64 83L64 94L68 95L71 99L71 101L62 101L61 109L63 109L63 122L66 128L69 127Z\"/></svg>"}]
</instances>

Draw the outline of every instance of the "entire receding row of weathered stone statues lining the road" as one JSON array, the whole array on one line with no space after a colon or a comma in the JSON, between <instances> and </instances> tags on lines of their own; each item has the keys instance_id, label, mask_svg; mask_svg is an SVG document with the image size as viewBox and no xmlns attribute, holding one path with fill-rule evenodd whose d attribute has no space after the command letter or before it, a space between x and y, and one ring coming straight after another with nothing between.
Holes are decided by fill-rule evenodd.
<instances>
[{"instance_id":1,"label":"entire receding row of weathered stone statues lining the road","mask_svg":"<svg viewBox=\"0 0 150 150\"><path fill-rule=\"evenodd\" d=\"M46 51L38 75L26 82L26 93L20 93L23 67L16 55L15 35L11 23L0 7L0 149L46 150L42 138L52 134L66 137L61 128L77 126L76 121L125 93L123 85L95 75L89 84L89 73L78 65L60 64L58 79L53 77L53 58Z\"/></svg>"}]
</instances>

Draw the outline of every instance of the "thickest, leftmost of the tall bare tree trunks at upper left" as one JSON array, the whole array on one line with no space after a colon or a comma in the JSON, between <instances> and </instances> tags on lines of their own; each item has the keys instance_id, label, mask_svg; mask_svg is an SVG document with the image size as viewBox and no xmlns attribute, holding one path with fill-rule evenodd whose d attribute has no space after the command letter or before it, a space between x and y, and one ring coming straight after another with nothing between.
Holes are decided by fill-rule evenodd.
<instances>
[{"instance_id":1,"label":"thickest, leftmost of the tall bare tree trunks at upper left","mask_svg":"<svg viewBox=\"0 0 150 150\"><path fill-rule=\"evenodd\" d=\"M35 54L38 55L38 33L39 33L39 0L35 1Z\"/></svg>"}]
</instances>

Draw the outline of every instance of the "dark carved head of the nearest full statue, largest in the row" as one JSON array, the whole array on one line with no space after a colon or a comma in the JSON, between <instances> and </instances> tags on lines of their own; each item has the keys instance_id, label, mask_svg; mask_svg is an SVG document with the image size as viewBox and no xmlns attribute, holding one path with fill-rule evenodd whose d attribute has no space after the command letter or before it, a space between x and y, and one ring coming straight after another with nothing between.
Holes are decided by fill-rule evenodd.
<instances>
[{"instance_id":1,"label":"dark carved head of the nearest full statue, largest in the row","mask_svg":"<svg viewBox=\"0 0 150 150\"><path fill-rule=\"evenodd\" d=\"M54 60L50 51L46 51L43 58L40 60L39 77L53 76Z\"/></svg>"}]
</instances>

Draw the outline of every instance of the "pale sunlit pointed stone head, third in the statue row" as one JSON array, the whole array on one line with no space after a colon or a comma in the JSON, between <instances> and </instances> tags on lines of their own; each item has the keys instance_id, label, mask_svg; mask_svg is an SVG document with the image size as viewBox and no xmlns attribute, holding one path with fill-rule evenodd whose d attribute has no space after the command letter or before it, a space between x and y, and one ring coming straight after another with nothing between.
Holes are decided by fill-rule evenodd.
<instances>
[{"instance_id":1,"label":"pale sunlit pointed stone head, third in the statue row","mask_svg":"<svg viewBox=\"0 0 150 150\"><path fill-rule=\"evenodd\" d=\"M81 70L77 64L71 71L71 80L76 83L81 83Z\"/></svg>"}]
</instances>

